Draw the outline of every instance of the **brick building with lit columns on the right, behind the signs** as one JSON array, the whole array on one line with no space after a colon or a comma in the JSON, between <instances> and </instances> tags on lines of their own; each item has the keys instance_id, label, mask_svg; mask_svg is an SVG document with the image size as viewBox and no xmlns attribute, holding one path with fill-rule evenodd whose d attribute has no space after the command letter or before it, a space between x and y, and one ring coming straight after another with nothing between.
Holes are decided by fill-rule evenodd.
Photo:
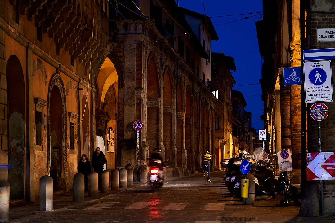
<instances>
[{"instance_id":1,"label":"brick building with lit columns on the right, behind the signs","mask_svg":"<svg viewBox=\"0 0 335 223\"><path fill-rule=\"evenodd\" d=\"M323 213L334 214L334 180L323 181L323 194L320 192L320 181L306 180L306 152L319 152L318 123L309 114L313 103L304 103L304 92L300 95L301 86L283 85L283 68L300 66L302 49L335 47L334 41L317 41L317 28L333 28L335 18L333 3L332 0L264 1L264 19L256 22L260 53L264 57L260 80L265 112L263 119L267 120L268 124L265 125L267 131L275 133L271 141L272 152L291 149L293 164L291 183L301 183L301 216L320 215L322 200ZM300 15L304 14L304 18L300 18ZM305 32L301 32L300 29L303 25L306 27ZM300 36L304 36L301 41L303 47L300 45ZM334 109L333 102L325 104L329 111ZM305 115L302 115L302 111L306 112L306 134ZM320 122L322 152L334 151L333 122L334 117L329 119L327 117ZM271 150L269 143L267 149Z\"/></svg>"}]
</instances>

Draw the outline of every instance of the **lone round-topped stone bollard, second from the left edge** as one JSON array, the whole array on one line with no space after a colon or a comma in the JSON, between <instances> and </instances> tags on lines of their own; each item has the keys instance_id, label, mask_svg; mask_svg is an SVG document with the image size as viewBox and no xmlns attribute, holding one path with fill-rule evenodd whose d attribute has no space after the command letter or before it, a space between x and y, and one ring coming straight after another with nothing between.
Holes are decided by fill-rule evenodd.
<instances>
[{"instance_id":1,"label":"lone round-topped stone bollard, second from the left edge","mask_svg":"<svg viewBox=\"0 0 335 223\"><path fill-rule=\"evenodd\" d=\"M52 211L54 181L50 176L40 178L40 211Z\"/></svg>"}]
</instances>

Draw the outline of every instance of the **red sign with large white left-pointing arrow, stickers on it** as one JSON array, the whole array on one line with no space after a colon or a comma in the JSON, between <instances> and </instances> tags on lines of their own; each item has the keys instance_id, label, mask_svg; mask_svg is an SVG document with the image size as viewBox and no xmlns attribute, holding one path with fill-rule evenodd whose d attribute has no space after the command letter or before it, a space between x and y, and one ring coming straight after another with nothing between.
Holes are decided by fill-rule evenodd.
<instances>
[{"instance_id":1,"label":"red sign with large white left-pointing arrow, stickers on it","mask_svg":"<svg viewBox=\"0 0 335 223\"><path fill-rule=\"evenodd\" d=\"M307 180L335 180L334 152L306 153Z\"/></svg>"}]
</instances>

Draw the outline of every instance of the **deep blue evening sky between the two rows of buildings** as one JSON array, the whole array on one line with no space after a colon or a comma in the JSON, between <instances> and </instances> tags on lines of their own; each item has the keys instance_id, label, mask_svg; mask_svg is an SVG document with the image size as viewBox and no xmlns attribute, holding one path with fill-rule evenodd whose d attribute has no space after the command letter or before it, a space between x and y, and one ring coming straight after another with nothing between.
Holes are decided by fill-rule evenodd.
<instances>
[{"instance_id":1,"label":"deep blue evening sky between the two rows of buildings","mask_svg":"<svg viewBox=\"0 0 335 223\"><path fill-rule=\"evenodd\" d=\"M255 22L262 18L262 2L262 0L179 0L180 7L211 17L219 37L219 40L211 41L212 51L219 53L223 51L226 56L234 58L237 70L232 73L236 81L233 89L243 93L247 102L245 110L252 113L252 127L256 129L263 129L263 121L260 120L260 115L263 114L262 89L259 84L263 61L259 54L255 27ZM243 19L246 17L250 18Z\"/></svg>"}]
</instances>

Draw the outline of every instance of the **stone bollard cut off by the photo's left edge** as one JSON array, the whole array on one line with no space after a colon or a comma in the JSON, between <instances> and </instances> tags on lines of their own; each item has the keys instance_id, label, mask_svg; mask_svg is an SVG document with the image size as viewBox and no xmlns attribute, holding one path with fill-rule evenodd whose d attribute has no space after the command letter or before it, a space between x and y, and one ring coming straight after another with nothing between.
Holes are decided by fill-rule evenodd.
<instances>
[{"instance_id":1,"label":"stone bollard cut off by the photo's left edge","mask_svg":"<svg viewBox=\"0 0 335 223\"><path fill-rule=\"evenodd\" d=\"M0 222L9 221L9 183L0 181Z\"/></svg>"}]
</instances>

